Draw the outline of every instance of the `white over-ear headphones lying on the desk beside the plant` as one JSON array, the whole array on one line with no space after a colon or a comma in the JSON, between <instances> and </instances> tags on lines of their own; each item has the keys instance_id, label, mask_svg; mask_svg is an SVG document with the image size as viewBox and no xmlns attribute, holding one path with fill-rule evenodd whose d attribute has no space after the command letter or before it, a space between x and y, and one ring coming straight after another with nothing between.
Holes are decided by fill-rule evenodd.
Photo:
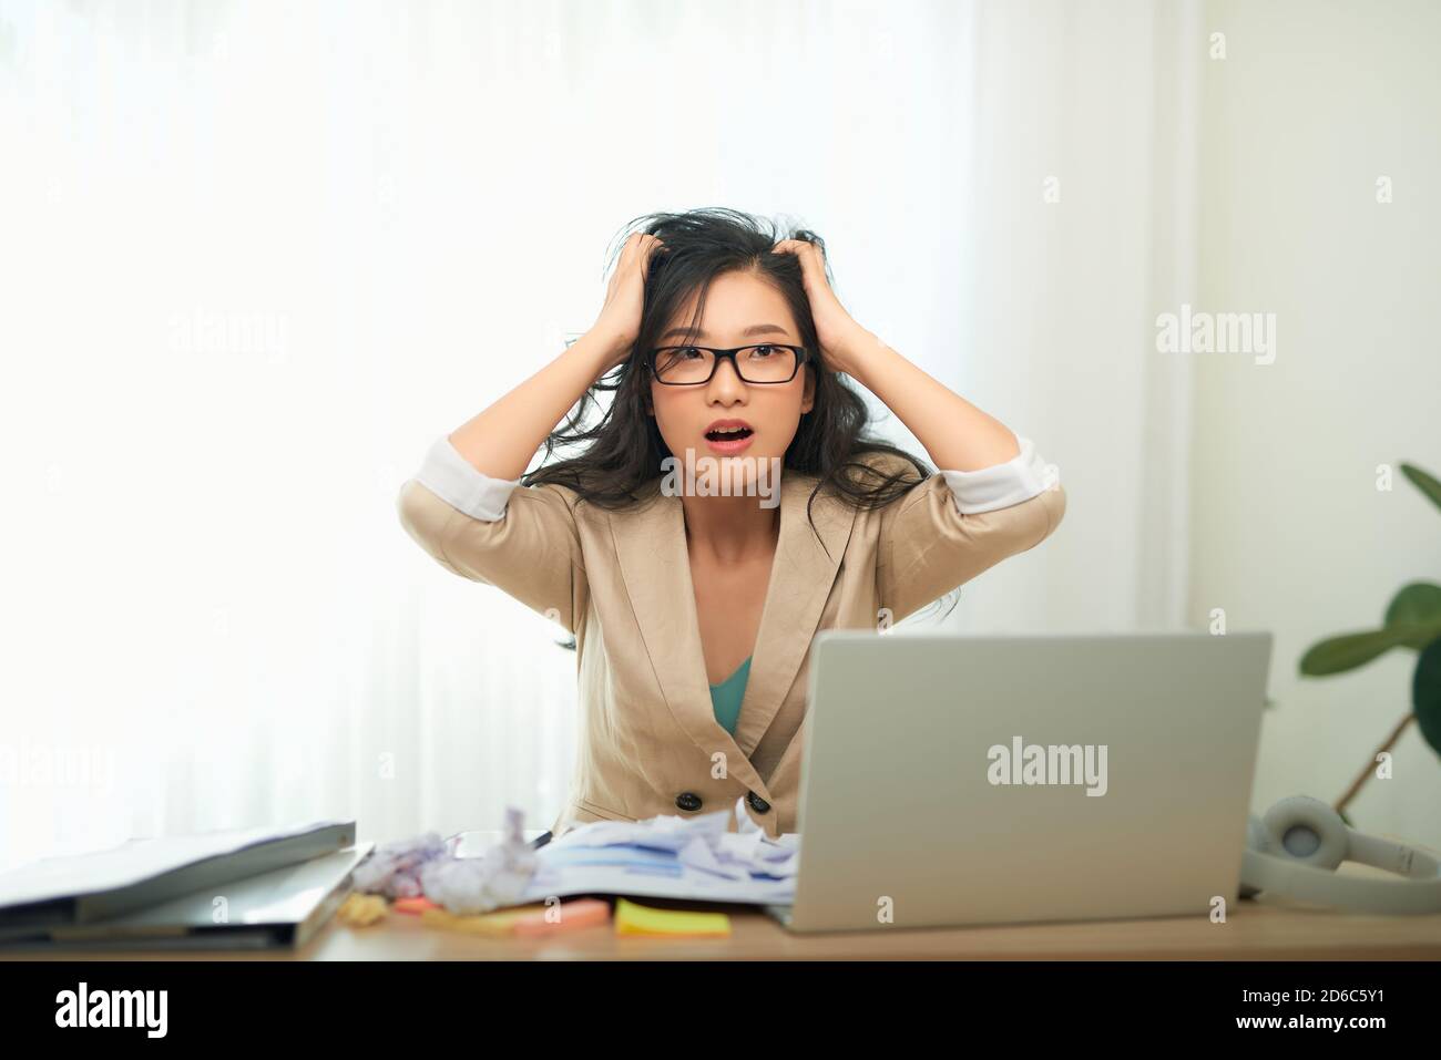
<instances>
[{"instance_id":1,"label":"white over-ear headphones lying on the desk beside the plant","mask_svg":"<svg viewBox=\"0 0 1441 1060\"><path fill-rule=\"evenodd\" d=\"M1337 876L1342 861L1385 868L1402 880ZM1365 913L1441 912L1441 861L1431 854L1347 828L1310 795L1281 799L1264 818L1251 814L1241 855L1241 897L1270 891Z\"/></svg>"}]
</instances>

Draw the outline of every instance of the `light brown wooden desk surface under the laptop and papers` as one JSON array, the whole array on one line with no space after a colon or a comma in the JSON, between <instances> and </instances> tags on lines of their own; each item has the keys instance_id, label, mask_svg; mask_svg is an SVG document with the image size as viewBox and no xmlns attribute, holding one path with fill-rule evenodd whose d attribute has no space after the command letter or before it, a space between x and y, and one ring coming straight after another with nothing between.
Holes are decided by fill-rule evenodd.
<instances>
[{"instance_id":1,"label":"light brown wooden desk surface under the laptop and papers","mask_svg":"<svg viewBox=\"0 0 1441 1060\"><path fill-rule=\"evenodd\" d=\"M646 904L672 904L647 902ZM699 906L690 906L699 907ZM716 906L719 909L719 906ZM1441 913L1372 916L1336 913L1282 900L1245 900L1223 925L1205 916L1004 928L886 929L791 935L764 913L726 906L729 939L637 939L611 925L550 939L487 939L386 915L369 928L337 920L300 952L12 953L4 959L238 959L238 961L826 961L826 959L1032 959L1032 961L1437 961Z\"/></svg>"}]
</instances>

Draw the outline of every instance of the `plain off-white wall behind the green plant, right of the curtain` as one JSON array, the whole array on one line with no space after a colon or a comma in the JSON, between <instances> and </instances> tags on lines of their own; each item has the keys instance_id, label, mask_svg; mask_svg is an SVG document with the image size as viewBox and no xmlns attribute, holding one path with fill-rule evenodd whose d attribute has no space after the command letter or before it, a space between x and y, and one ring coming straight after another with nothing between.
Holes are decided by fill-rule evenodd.
<instances>
[{"instance_id":1,"label":"plain off-white wall behind the green plant, right of the curtain","mask_svg":"<svg viewBox=\"0 0 1441 1060\"><path fill-rule=\"evenodd\" d=\"M1195 308L1275 313L1277 356L1196 356L1190 619L1275 632L1254 807L1330 802L1409 709L1415 654L1327 678L1301 654L1441 580L1441 511L1399 474L1441 474L1441 6L1219 0L1206 29L1226 58L1203 73ZM1441 847L1438 808L1412 724L1350 815Z\"/></svg>"}]
</instances>

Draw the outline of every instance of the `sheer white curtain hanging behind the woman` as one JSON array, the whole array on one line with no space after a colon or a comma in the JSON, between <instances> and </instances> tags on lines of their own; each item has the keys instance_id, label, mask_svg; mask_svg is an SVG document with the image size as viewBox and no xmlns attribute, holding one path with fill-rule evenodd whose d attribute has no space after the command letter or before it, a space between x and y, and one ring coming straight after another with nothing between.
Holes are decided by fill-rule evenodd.
<instances>
[{"instance_id":1,"label":"sheer white curtain hanging behind the woman","mask_svg":"<svg viewBox=\"0 0 1441 1060\"><path fill-rule=\"evenodd\" d=\"M950 626L1177 624L1202 48L1192 3L0 3L0 867L549 824L575 657L395 494L650 210L816 229L1059 465Z\"/></svg>"}]
</instances>

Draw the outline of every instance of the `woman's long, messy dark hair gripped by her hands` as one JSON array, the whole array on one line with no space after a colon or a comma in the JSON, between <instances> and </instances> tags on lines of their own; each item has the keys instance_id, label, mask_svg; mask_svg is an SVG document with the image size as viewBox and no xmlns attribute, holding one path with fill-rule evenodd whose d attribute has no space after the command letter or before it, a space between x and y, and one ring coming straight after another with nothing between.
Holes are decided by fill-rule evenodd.
<instances>
[{"instance_id":1,"label":"woman's long, messy dark hair gripped by her hands","mask_svg":"<svg viewBox=\"0 0 1441 1060\"><path fill-rule=\"evenodd\" d=\"M811 506L823 490L859 510L872 510L891 504L934 474L909 452L869 436L865 399L821 361L800 261L791 253L771 253L781 239L804 239L824 256L826 243L818 235L725 207L648 213L623 229L612 261L637 230L657 236L664 248L650 258L635 344L620 366L586 389L566 421L546 438L545 462L522 478L525 485L565 485L579 501L610 510L646 501L648 487L661 477L661 461L672 457L656 419L647 415L647 354L672 317L699 291L692 336L686 338L690 341L710 282L735 271L749 272L781 292L800 328L801 344L810 351L804 370L816 380L814 403L785 449L782 474L795 471L820 478L806 506L811 530L816 529ZM826 275L830 279L829 264ZM608 406L602 406L601 393L614 395ZM601 416L585 426L592 406L601 409ZM584 452L550 462L558 449L581 445L586 446ZM892 472L880 465L889 465Z\"/></svg>"}]
</instances>

